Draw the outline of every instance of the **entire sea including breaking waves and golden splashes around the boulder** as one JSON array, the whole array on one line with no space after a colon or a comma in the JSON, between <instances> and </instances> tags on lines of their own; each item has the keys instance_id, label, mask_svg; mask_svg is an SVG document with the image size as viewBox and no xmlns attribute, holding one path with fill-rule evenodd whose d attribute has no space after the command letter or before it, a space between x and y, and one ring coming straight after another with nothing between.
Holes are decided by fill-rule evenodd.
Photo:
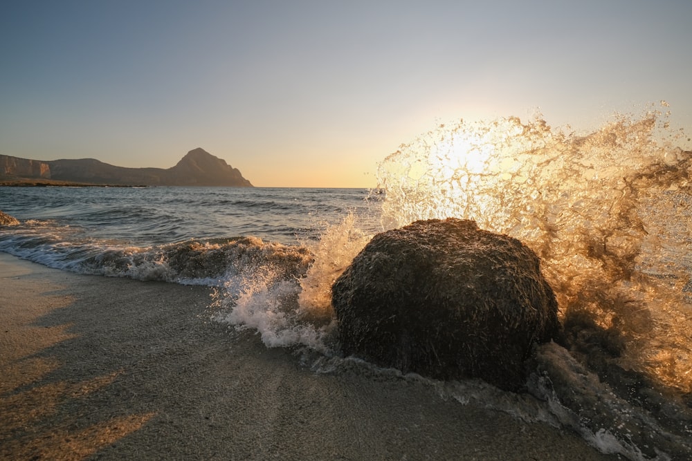
<instances>
[{"instance_id":1,"label":"entire sea including breaking waves and golden splashes around the boulder","mask_svg":"<svg viewBox=\"0 0 692 461\"><path fill-rule=\"evenodd\" d=\"M383 156L373 189L0 187L0 251L60 270L212 288L210 317L314 373L383 373L581 434L630 460L692 459L692 153L666 104L587 133L455 120ZM331 284L379 232L467 218L540 257L565 329L517 393L338 351ZM298 358L297 358L298 359ZM360 372L358 370L361 370Z\"/></svg>"}]
</instances>

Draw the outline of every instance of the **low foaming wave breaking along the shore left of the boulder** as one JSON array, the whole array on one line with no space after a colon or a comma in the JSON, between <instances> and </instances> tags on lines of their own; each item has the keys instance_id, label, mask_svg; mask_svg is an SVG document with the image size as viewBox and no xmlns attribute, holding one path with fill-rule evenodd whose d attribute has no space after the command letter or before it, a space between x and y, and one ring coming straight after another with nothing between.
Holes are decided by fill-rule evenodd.
<instances>
[{"instance_id":1,"label":"low foaming wave breaking along the shore left of the boulder","mask_svg":"<svg viewBox=\"0 0 692 461\"><path fill-rule=\"evenodd\" d=\"M296 279L313 261L305 247L265 242L252 236L137 247L84 238L78 229L50 220L27 220L12 227L11 233L2 231L0 251L79 274L224 285L230 294L240 290L234 287L240 287L243 278L252 279L269 268L277 277Z\"/></svg>"}]
</instances>

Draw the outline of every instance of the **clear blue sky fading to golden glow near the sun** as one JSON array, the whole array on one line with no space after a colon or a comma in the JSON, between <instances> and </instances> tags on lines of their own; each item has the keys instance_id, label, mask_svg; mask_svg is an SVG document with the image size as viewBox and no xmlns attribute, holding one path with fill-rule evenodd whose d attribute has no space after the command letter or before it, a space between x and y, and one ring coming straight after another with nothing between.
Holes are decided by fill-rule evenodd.
<instances>
[{"instance_id":1,"label":"clear blue sky fading to golden glow near the sun","mask_svg":"<svg viewBox=\"0 0 692 461\"><path fill-rule=\"evenodd\" d=\"M437 124L597 129L665 100L692 133L692 1L4 0L0 154L374 187Z\"/></svg>"}]
</instances>

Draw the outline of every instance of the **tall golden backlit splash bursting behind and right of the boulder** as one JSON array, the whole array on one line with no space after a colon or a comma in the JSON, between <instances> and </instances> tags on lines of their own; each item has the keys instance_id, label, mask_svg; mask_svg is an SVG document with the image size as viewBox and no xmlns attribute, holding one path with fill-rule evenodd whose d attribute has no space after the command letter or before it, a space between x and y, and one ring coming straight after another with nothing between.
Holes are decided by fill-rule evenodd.
<instances>
[{"instance_id":1,"label":"tall golden backlit splash bursting behind and right of the boulder","mask_svg":"<svg viewBox=\"0 0 692 461\"><path fill-rule=\"evenodd\" d=\"M519 238L574 352L692 392L692 153L668 115L617 115L585 136L540 117L440 125L380 164L383 225L467 218Z\"/></svg>"}]
</instances>

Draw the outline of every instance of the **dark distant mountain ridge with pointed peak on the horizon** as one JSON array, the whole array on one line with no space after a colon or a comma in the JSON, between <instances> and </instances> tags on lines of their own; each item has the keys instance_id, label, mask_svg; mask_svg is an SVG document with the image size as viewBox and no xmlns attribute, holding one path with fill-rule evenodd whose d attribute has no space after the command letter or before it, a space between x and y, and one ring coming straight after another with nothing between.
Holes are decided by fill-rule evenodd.
<instances>
[{"instance_id":1,"label":"dark distant mountain ridge with pointed peak on the horizon","mask_svg":"<svg viewBox=\"0 0 692 461\"><path fill-rule=\"evenodd\" d=\"M252 187L237 168L199 147L188 152L176 166L169 169L115 167L93 158L42 162L0 156L0 180L93 185Z\"/></svg>"}]
</instances>

